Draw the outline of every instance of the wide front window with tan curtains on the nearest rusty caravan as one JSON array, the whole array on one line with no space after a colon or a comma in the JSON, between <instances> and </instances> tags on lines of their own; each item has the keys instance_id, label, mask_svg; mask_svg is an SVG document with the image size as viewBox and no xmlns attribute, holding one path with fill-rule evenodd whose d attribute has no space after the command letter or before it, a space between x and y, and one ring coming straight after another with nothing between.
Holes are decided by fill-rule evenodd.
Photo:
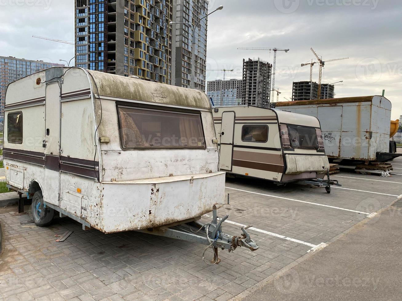
<instances>
[{"instance_id":1,"label":"wide front window with tan curtains on the nearest rusty caravan","mask_svg":"<svg viewBox=\"0 0 402 301\"><path fill-rule=\"evenodd\" d=\"M125 149L205 148L200 114L118 106Z\"/></svg>"}]
</instances>

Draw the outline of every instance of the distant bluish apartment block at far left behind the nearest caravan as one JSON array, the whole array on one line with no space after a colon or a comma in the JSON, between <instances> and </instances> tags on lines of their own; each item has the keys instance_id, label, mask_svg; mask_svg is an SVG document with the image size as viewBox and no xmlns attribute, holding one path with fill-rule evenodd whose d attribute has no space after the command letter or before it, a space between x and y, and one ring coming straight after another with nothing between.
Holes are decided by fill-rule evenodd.
<instances>
[{"instance_id":1,"label":"distant bluish apartment block at far left behind the nearest caravan","mask_svg":"<svg viewBox=\"0 0 402 301\"><path fill-rule=\"evenodd\" d=\"M6 100L7 85L12 81L25 77L32 73L47 69L53 66L64 66L62 64L47 63L44 61L32 61L28 59L17 59L15 57L0 56L0 128L4 122L4 102Z\"/></svg>"}]
</instances>

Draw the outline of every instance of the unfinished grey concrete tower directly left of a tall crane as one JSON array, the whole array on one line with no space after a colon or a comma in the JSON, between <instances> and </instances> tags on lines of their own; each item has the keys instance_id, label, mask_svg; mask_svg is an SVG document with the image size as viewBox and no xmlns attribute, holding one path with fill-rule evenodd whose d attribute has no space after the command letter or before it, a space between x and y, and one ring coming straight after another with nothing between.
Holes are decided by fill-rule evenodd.
<instances>
[{"instance_id":1,"label":"unfinished grey concrete tower directly left of a tall crane","mask_svg":"<svg viewBox=\"0 0 402 301\"><path fill-rule=\"evenodd\" d=\"M272 65L260 58L243 59L242 104L269 108Z\"/></svg>"}]
</instances>

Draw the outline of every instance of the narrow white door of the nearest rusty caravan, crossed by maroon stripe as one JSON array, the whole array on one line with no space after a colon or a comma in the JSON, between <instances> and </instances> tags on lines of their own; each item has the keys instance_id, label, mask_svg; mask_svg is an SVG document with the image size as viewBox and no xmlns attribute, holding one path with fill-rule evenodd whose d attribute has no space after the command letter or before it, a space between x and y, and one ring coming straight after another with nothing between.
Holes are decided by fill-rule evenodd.
<instances>
[{"instance_id":1,"label":"narrow white door of the nearest rusty caravan, crossed by maroon stripe","mask_svg":"<svg viewBox=\"0 0 402 301\"><path fill-rule=\"evenodd\" d=\"M59 205L60 189L60 100L61 88L59 82L46 86L45 102L45 187L43 200Z\"/></svg>"}]
</instances>

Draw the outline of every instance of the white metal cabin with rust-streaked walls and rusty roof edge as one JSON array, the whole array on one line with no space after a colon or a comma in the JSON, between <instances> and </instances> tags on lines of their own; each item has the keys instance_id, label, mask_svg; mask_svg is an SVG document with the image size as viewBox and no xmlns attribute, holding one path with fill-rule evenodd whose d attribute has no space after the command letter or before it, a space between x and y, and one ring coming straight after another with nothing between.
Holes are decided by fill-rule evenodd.
<instances>
[{"instance_id":1,"label":"white metal cabin with rust-streaked walls and rusty roof edge","mask_svg":"<svg viewBox=\"0 0 402 301\"><path fill-rule=\"evenodd\" d=\"M389 152L392 105L384 96L278 102L276 108L317 117L330 158L375 161Z\"/></svg>"}]
</instances>

